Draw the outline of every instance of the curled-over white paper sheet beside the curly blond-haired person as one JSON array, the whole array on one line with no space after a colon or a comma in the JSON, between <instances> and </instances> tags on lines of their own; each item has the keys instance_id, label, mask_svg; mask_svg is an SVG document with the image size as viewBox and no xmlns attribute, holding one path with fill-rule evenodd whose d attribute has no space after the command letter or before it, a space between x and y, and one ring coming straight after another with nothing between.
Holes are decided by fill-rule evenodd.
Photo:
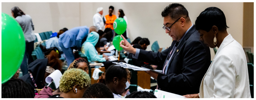
<instances>
[{"instance_id":1,"label":"curled-over white paper sheet beside the curly blond-haired person","mask_svg":"<svg viewBox=\"0 0 256 100\"><path fill-rule=\"evenodd\" d=\"M61 76L62 76L61 71L55 70L49 76L46 77L45 81L48 84L50 84L50 83L52 83L52 81L54 81L55 87L58 88L59 87L59 81L61 80Z\"/></svg>"}]
</instances>

